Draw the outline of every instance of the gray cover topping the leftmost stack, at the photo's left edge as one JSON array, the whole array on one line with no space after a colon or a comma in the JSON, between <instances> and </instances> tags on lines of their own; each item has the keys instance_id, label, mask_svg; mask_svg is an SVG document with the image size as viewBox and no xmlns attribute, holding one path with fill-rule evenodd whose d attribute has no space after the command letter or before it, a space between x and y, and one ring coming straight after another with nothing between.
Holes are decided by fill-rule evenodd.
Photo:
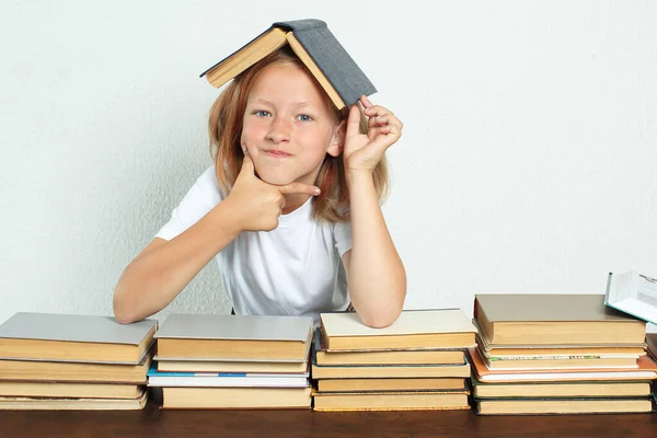
<instances>
[{"instance_id":1,"label":"gray cover topping the leftmost stack, at the photo's left edge","mask_svg":"<svg viewBox=\"0 0 657 438\"><path fill-rule=\"evenodd\" d=\"M119 324L111 316L19 312L0 325L0 338L139 345L155 320Z\"/></svg>"}]
</instances>

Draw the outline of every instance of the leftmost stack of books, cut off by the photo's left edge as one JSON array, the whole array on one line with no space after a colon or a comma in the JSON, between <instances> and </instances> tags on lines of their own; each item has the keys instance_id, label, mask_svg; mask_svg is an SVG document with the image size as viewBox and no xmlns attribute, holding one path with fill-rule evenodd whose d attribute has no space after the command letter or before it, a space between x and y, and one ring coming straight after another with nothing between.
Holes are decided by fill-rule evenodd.
<instances>
[{"instance_id":1,"label":"leftmost stack of books, cut off by the photo's left edge","mask_svg":"<svg viewBox=\"0 0 657 438\"><path fill-rule=\"evenodd\" d=\"M157 322L16 313L0 325L0 410L140 410Z\"/></svg>"}]
</instances>

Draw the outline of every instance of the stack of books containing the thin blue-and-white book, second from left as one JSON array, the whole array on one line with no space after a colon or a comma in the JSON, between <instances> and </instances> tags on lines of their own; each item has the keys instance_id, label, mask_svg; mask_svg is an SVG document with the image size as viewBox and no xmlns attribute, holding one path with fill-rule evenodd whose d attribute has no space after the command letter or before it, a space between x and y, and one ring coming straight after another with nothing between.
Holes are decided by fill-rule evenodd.
<instances>
[{"instance_id":1,"label":"stack of books containing the thin blue-and-white book, second from left","mask_svg":"<svg viewBox=\"0 0 657 438\"><path fill-rule=\"evenodd\" d=\"M310 408L312 318L172 314L148 385L164 408Z\"/></svg>"}]
</instances>

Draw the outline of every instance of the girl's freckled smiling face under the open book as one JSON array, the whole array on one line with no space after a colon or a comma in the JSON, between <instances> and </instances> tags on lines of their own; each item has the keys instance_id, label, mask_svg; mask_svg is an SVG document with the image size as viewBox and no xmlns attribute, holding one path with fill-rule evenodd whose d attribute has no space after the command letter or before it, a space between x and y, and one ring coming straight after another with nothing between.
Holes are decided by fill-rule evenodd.
<instances>
[{"instance_id":1,"label":"girl's freckled smiling face under the open book","mask_svg":"<svg viewBox=\"0 0 657 438\"><path fill-rule=\"evenodd\" d=\"M310 73L272 64L253 82L241 145L264 182L314 184L326 153L342 151L342 127Z\"/></svg>"}]
</instances>

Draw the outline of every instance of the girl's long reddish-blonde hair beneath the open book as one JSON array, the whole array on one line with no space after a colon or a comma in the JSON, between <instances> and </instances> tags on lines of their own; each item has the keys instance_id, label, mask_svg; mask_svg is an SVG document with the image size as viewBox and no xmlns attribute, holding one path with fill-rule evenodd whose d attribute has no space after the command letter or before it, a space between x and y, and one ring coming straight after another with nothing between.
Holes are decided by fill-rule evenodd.
<instances>
[{"instance_id":1,"label":"girl's long reddish-blonde hair beneath the open book","mask_svg":"<svg viewBox=\"0 0 657 438\"><path fill-rule=\"evenodd\" d=\"M235 77L217 97L210 110L208 122L210 154L215 161L217 180L226 194L230 192L242 169L244 152L240 145L240 138L242 136L246 100L253 87L253 81L265 67L278 62L295 64L306 69L306 66L289 47L284 47ZM333 108L338 122L347 118L348 107L337 110L327 94L325 94L325 102L328 107ZM367 134L367 118L362 115L362 112L360 112L360 131ZM379 201L382 203L388 195L389 184L385 155L374 168L372 176ZM314 199L313 217L333 223L348 221L349 189L342 154L338 157L326 154L320 168L315 185L320 187L322 194Z\"/></svg>"}]
</instances>

